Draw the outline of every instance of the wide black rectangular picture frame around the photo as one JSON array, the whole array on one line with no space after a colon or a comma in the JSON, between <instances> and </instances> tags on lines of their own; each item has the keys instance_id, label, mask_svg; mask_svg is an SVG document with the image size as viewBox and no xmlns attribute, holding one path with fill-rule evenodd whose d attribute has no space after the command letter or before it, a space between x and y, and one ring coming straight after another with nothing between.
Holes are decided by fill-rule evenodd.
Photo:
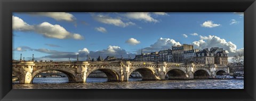
<instances>
[{"instance_id":1,"label":"wide black rectangular picture frame around the photo","mask_svg":"<svg viewBox=\"0 0 256 101\"><path fill-rule=\"evenodd\" d=\"M255 100L255 0L0 0L0 100ZM244 89L12 89L12 12L244 12Z\"/></svg>"}]
</instances>

